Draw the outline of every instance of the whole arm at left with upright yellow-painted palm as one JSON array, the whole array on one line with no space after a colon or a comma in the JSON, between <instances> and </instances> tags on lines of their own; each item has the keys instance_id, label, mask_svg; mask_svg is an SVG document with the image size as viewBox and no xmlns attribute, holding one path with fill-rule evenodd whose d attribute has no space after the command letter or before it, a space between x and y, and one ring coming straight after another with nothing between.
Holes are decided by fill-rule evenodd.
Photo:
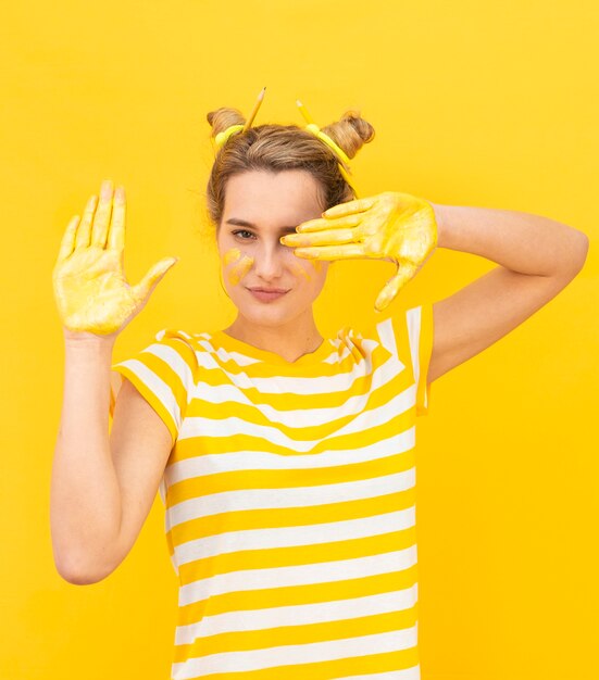
<instances>
[{"instance_id":1,"label":"whole arm at left with upright yellow-painted palm","mask_svg":"<svg viewBox=\"0 0 599 680\"><path fill-rule=\"evenodd\" d=\"M52 465L50 524L54 563L72 583L93 583L129 551L172 448L166 425L128 382L109 438L110 369L118 332L139 313L173 259L130 287L122 272L125 197L104 182L96 210L64 234L53 272L65 364Z\"/></svg>"}]
</instances>

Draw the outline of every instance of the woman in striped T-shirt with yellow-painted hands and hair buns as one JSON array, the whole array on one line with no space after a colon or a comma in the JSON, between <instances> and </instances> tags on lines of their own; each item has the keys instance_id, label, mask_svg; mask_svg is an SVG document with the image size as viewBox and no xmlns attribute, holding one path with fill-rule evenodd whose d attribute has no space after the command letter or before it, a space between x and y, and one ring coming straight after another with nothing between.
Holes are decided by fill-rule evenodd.
<instances>
[{"instance_id":1,"label":"woman in striped T-shirt with yellow-painted hands and hair buns","mask_svg":"<svg viewBox=\"0 0 599 680\"><path fill-rule=\"evenodd\" d=\"M164 329L112 365L116 337L175 260L127 286L125 196L111 182L63 238L57 568L72 583L110 575L160 489L179 577L173 678L417 679L415 417L435 379L574 278L588 239L405 193L352 201L342 158L314 130L247 127L227 109L208 119L215 137L238 128L208 185L237 307L228 328ZM323 133L353 158L374 130L348 113ZM329 261L396 262L382 310L436 247L499 266L434 304L396 303L370 337L322 337L312 304ZM111 368L123 385L109 436Z\"/></svg>"}]
</instances>

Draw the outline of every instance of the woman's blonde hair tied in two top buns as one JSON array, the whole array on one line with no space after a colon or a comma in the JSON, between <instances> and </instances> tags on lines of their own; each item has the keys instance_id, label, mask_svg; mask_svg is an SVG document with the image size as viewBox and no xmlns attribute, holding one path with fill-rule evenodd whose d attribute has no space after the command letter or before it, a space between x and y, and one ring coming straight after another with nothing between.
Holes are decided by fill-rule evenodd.
<instances>
[{"instance_id":1,"label":"woman's blonde hair tied in two top buns","mask_svg":"<svg viewBox=\"0 0 599 680\"><path fill-rule=\"evenodd\" d=\"M207 115L212 137L230 125L245 125L237 109L217 109ZM362 146L374 138L373 126L354 111L346 112L337 123L322 128L352 159ZM227 180L248 171L304 169L320 187L323 212L337 203L355 198L339 172L339 159L312 133L297 125L259 125L233 135L220 149L207 187L210 219L219 230L225 205Z\"/></svg>"}]
</instances>

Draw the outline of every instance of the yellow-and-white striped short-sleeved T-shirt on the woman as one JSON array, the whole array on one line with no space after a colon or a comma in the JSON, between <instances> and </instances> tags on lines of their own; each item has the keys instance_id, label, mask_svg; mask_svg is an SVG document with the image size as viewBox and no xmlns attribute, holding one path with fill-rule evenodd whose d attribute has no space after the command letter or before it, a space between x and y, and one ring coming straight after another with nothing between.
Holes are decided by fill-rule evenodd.
<instances>
[{"instance_id":1,"label":"yellow-and-white striped short-sleeved T-shirt on the woman","mask_svg":"<svg viewBox=\"0 0 599 680\"><path fill-rule=\"evenodd\" d=\"M289 363L221 330L164 329L112 366L174 440L160 483L179 579L172 680L420 679L432 305L367 335L346 327Z\"/></svg>"}]
</instances>

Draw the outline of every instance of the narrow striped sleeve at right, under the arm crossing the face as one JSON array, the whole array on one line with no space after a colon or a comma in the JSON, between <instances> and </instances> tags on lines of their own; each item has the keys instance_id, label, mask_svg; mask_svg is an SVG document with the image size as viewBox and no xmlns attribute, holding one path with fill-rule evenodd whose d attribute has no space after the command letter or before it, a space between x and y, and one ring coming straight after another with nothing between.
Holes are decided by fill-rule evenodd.
<instances>
[{"instance_id":1,"label":"narrow striped sleeve at right, under the arm crossing the face","mask_svg":"<svg viewBox=\"0 0 599 680\"><path fill-rule=\"evenodd\" d=\"M430 383L428 365L433 353L433 303L423 303L405 311L412 372L416 385L416 416L428 415Z\"/></svg>"}]
</instances>

